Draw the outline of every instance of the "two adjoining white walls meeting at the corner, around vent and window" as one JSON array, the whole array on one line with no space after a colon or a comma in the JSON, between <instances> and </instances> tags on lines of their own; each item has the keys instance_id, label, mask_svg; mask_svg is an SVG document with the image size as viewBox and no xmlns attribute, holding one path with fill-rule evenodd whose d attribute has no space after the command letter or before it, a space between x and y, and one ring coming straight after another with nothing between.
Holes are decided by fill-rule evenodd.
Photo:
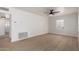
<instances>
[{"instance_id":1,"label":"two adjoining white walls meeting at the corner, around vent and window","mask_svg":"<svg viewBox=\"0 0 79 59\"><path fill-rule=\"evenodd\" d=\"M19 41L18 34L27 32L29 37L42 35L46 33L56 33L70 36L77 36L78 33L78 15L69 14L64 16L51 17L41 16L16 8L10 8L11 13L11 41ZM56 20L64 19L65 28L63 32L56 30Z\"/></svg>"}]
</instances>

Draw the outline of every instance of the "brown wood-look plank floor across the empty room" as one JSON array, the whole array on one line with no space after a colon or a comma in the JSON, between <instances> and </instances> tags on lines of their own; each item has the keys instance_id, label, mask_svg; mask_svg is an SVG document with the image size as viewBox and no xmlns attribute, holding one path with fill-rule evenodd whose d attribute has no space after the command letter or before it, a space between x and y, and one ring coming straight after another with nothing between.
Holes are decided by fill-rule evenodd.
<instances>
[{"instance_id":1,"label":"brown wood-look plank floor across the empty room","mask_svg":"<svg viewBox=\"0 0 79 59\"><path fill-rule=\"evenodd\" d=\"M78 51L78 38L44 34L18 42L0 39L0 51Z\"/></svg>"}]
</instances>

